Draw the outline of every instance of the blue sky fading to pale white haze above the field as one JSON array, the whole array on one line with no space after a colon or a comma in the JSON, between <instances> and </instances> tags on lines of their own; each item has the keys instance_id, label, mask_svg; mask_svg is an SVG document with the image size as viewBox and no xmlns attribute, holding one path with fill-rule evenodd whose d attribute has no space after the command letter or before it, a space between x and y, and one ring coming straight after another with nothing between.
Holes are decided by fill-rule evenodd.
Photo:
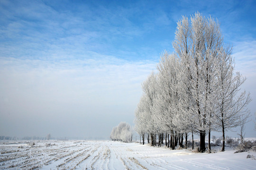
<instances>
[{"instance_id":1,"label":"blue sky fading to pale white haze above the field","mask_svg":"<svg viewBox=\"0 0 256 170\"><path fill-rule=\"evenodd\" d=\"M177 22L218 18L251 93L246 137L256 137L255 0L0 0L0 136L108 139L133 125L141 83ZM238 132L229 136L236 137Z\"/></svg>"}]
</instances>

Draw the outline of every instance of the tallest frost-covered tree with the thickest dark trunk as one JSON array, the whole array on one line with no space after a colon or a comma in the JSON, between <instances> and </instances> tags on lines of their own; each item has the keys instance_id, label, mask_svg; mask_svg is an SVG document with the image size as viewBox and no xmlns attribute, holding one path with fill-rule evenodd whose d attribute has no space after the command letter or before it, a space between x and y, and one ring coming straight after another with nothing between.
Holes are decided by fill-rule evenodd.
<instances>
[{"instance_id":1,"label":"tallest frost-covered tree with the thickest dark trunk","mask_svg":"<svg viewBox=\"0 0 256 170\"><path fill-rule=\"evenodd\" d=\"M218 23L200 13L178 22L173 42L174 53L181 59L184 86L189 94L193 124L200 134L200 150L205 151L205 135L210 133L216 99L216 61L222 43Z\"/></svg>"}]
</instances>

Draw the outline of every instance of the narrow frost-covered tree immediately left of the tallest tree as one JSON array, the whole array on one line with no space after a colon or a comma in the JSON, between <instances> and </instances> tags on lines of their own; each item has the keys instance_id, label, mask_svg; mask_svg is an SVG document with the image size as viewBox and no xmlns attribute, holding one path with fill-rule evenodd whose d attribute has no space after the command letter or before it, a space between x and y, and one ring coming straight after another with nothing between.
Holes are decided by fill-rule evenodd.
<instances>
[{"instance_id":1,"label":"narrow frost-covered tree immediately left of the tallest tree","mask_svg":"<svg viewBox=\"0 0 256 170\"><path fill-rule=\"evenodd\" d=\"M159 125L163 132L171 134L171 147L174 149L174 138L179 132L182 131L181 125L183 123L174 122L174 117L181 113L181 91L179 84L179 61L167 51L164 51L160 57L159 64L157 65L158 74L158 88L156 110L159 115ZM156 112L155 110L155 112Z\"/></svg>"}]
</instances>

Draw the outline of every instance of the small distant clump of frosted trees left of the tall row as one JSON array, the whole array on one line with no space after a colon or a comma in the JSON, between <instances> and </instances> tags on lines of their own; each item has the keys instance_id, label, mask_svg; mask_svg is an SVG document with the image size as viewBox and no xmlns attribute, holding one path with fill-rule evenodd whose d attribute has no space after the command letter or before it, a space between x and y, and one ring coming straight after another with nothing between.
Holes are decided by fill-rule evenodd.
<instances>
[{"instance_id":1,"label":"small distant clump of frosted trees left of the tall row","mask_svg":"<svg viewBox=\"0 0 256 170\"><path fill-rule=\"evenodd\" d=\"M120 122L118 126L113 127L110 134L110 139L122 142L131 142L132 127L126 122Z\"/></svg>"}]
</instances>

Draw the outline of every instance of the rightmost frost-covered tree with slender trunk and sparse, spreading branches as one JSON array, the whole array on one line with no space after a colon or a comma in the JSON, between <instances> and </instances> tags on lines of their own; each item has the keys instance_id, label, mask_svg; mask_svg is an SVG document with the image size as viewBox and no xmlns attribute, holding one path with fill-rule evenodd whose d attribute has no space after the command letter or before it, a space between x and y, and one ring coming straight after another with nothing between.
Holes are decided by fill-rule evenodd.
<instances>
[{"instance_id":1,"label":"rightmost frost-covered tree with slender trunk and sparse, spreading branches","mask_svg":"<svg viewBox=\"0 0 256 170\"><path fill-rule=\"evenodd\" d=\"M240 86L245 82L246 78L241 76L239 72L234 73L234 59L231 56L232 49L223 47L219 53L219 75L218 75L218 91L219 96L216 110L216 124L222 132L222 149L225 151L225 130L232 127L238 127L246 123L249 110L246 108L251 101L250 93L245 91L238 94Z\"/></svg>"}]
</instances>

